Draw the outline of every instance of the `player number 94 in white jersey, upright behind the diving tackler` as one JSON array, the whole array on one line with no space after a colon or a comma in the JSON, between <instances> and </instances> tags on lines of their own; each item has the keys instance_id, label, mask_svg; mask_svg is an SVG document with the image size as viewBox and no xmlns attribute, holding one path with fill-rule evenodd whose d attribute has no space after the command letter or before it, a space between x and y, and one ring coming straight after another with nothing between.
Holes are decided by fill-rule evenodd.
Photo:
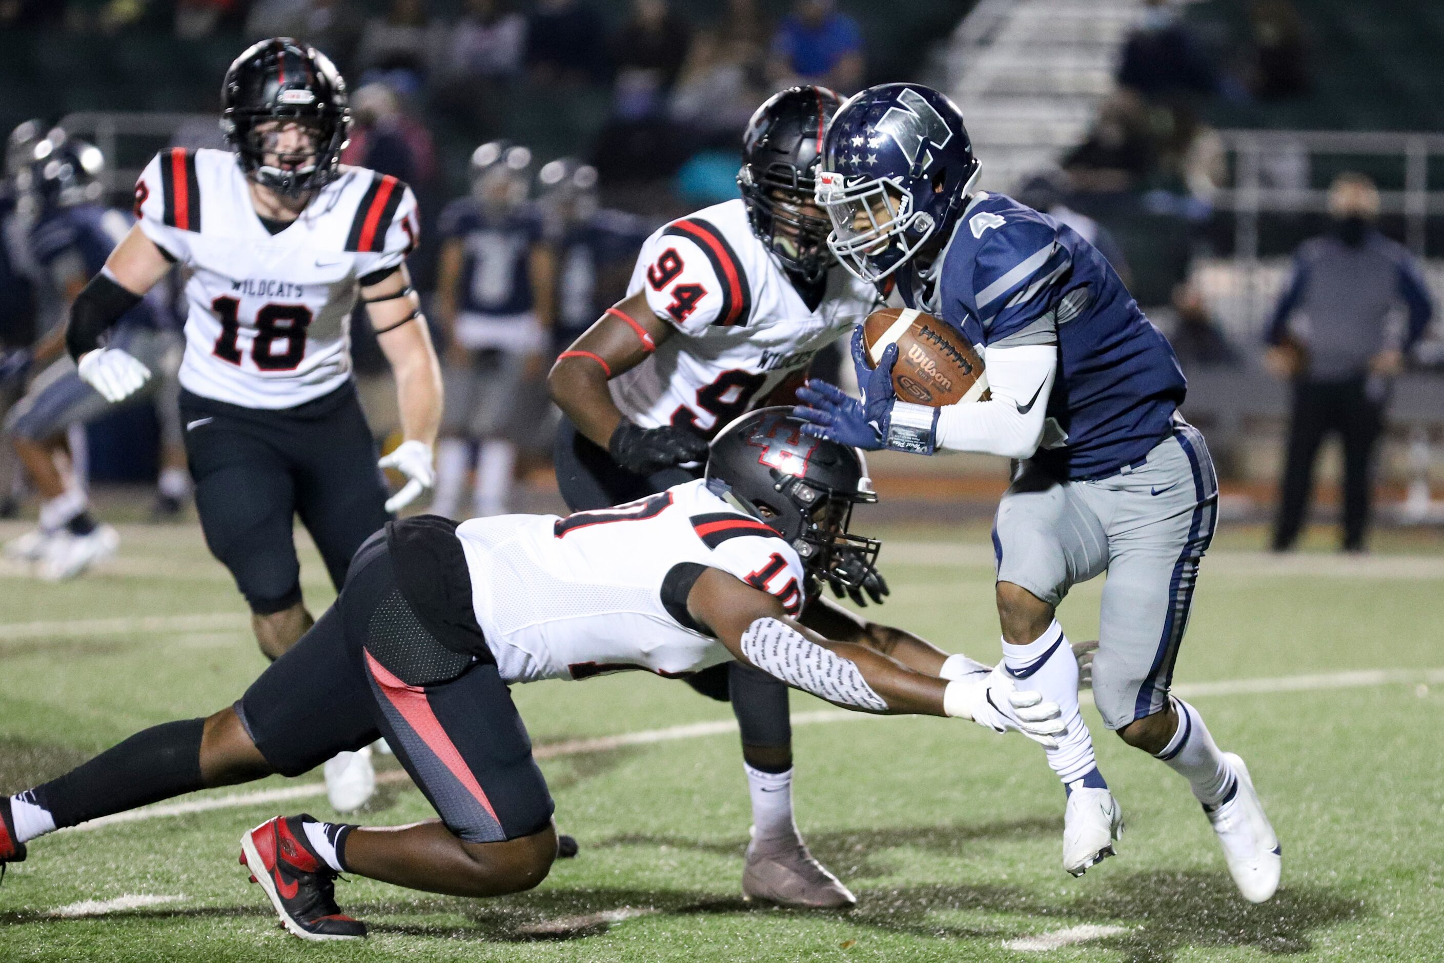
<instances>
[{"instance_id":1,"label":"player number 94 in white jersey, upright behind the diving tackler","mask_svg":"<svg viewBox=\"0 0 1444 963\"><path fill-rule=\"evenodd\" d=\"M562 352L556 474L573 511L695 478L706 439L771 397L787 401L813 355L849 334L874 292L836 267L812 189L839 100L794 87L762 104L742 139L742 196L673 221L643 244L630 295ZM878 578L868 589L885 591ZM861 601L861 592L855 592ZM729 700L742 733L752 816L744 892L846 907L852 894L810 856L791 811L787 690L744 664L689 679ZM770 845L775 843L775 845Z\"/></svg>"}]
</instances>

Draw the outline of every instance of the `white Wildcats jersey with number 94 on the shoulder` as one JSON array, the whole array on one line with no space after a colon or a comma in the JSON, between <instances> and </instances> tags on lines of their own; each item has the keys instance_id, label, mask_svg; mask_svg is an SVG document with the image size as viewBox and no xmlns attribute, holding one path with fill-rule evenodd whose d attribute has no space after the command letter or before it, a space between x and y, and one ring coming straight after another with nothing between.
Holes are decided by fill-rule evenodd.
<instances>
[{"instance_id":1,"label":"white Wildcats jersey with number 94 on the shoulder","mask_svg":"<svg viewBox=\"0 0 1444 963\"><path fill-rule=\"evenodd\" d=\"M710 437L800 378L820 348L866 319L871 286L835 267L817 309L752 234L741 199L660 228L641 247L628 296L677 331L611 380L612 401L643 427L689 424Z\"/></svg>"}]
</instances>

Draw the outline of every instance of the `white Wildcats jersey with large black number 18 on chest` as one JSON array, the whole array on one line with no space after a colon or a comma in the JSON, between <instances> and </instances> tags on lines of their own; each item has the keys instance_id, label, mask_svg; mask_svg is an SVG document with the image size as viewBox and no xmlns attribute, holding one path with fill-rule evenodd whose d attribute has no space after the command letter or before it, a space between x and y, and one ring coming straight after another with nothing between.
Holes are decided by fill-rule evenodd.
<instances>
[{"instance_id":1,"label":"white Wildcats jersey with large black number 18 on chest","mask_svg":"<svg viewBox=\"0 0 1444 963\"><path fill-rule=\"evenodd\" d=\"M279 234L224 150L162 150L136 182L140 230L180 264L180 384L248 409L289 409L351 377L347 319L362 279L416 247L416 198L396 178L341 167Z\"/></svg>"}]
</instances>

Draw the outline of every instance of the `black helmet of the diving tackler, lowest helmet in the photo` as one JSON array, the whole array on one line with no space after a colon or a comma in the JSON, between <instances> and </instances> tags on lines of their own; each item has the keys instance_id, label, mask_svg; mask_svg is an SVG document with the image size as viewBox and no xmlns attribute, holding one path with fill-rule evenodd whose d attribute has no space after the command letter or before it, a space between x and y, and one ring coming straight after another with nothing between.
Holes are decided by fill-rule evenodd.
<instances>
[{"instance_id":1,"label":"black helmet of the diving tackler, lowest helmet in the photo","mask_svg":"<svg viewBox=\"0 0 1444 963\"><path fill-rule=\"evenodd\" d=\"M804 435L803 424L788 407L736 419L712 440L708 487L775 528L813 579L862 588L882 547L848 533L852 507L878 500L868 463L855 448Z\"/></svg>"}]
</instances>

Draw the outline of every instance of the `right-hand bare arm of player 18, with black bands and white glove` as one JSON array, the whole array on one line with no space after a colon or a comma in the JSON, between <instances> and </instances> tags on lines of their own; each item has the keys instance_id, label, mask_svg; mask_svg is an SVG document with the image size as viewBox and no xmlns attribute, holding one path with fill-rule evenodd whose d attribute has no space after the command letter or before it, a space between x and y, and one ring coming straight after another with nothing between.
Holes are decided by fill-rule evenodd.
<instances>
[{"instance_id":1,"label":"right-hand bare arm of player 18, with black bands and white glove","mask_svg":"<svg viewBox=\"0 0 1444 963\"><path fill-rule=\"evenodd\" d=\"M401 491L386 502L387 511L397 511L436 484L432 446L442 420L442 370L404 264L362 287L361 299L396 375L404 440L381 459L381 466L396 468L407 478Z\"/></svg>"}]
</instances>

